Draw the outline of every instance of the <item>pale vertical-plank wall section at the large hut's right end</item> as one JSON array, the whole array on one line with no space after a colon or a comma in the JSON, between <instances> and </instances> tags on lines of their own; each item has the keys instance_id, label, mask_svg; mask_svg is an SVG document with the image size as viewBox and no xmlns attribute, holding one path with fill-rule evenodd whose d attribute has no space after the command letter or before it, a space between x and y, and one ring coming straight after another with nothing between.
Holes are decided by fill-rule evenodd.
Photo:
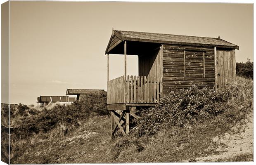
<instances>
[{"instance_id":1,"label":"pale vertical-plank wall section at the large hut's right end","mask_svg":"<svg viewBox=\"0 0 256 165\"><path fill-rule=\"evenodd\" d=\"M223 88L236 79L235 50L217 48L217 89Z\"/></svg>"}]
</instances>

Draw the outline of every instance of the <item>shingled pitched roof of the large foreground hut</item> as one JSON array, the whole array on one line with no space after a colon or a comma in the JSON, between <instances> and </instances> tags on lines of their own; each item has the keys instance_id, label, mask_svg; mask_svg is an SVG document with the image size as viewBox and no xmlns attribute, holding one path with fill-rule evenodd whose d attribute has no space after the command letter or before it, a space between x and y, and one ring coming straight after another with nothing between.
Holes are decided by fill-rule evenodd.
<instances>
[{"instance_id":1,"label":"shingled pitched roof of the large foreground hut","mask_svg":"<svg viewBox=\"0 0 256 165\"><path fill-rule=\"evenodd\" d=\"M122 41L139 41L139 42L154 42L160 44L173 44L173 45L190 45L190 46L209 46L209 47L224 47L239 49L235 44L220 38L210 37L197 37L189 35L174 35L174 34L161 34L161 33L147 33L147 32L136 32L136 31L118 31L113 30L112 36L109 40L107 50L110 46L110 42L115 35ZM108 51L106 50L106 53Z\"/></svg>"}]
</instances>

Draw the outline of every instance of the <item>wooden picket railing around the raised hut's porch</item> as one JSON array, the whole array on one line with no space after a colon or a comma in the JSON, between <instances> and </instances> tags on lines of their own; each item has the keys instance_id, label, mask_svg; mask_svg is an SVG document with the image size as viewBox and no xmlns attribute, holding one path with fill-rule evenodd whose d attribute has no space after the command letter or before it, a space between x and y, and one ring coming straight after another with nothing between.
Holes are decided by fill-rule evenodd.
<instances>
[{"instance_id":1,"label":"wooden picket railing around the raised hut's porch","mask_svg":"<svg viewBox=\"0 0 256 165\"><path fill-rule=\"evenodd\" d=\"M162 93L161 80L146 76L121 76L108 81L107 104L156 103Z\"/></svg>"}]
</instances>

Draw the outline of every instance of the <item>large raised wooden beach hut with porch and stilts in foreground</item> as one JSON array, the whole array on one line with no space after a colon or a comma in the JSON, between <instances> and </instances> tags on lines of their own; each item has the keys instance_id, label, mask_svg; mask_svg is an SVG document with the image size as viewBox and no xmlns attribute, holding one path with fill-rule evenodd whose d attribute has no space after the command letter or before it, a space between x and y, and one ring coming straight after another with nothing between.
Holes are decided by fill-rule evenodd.
<instances>
[{"instance_id":1,"label":"large raised wooden beach hut with porch and stilts in foreground","mask_svg":"<svg viewBox=\"0 0 256 165\"><path fill-rule=\"evenodd\" d=\"M218 38L112 30L108 56L107 105L111 131L129 132L131 108L154 106L161 95L191 85L219 90L236 78L235 50ZM109 54L124 54L124 75L109 80ZM126 56L138 56L139 75L126 75ZM123 122L125 124L123 124ZM125 126L122 126L125 125ZM124 131L123 127L126 127Z\"/></svg>"}]
</instances>

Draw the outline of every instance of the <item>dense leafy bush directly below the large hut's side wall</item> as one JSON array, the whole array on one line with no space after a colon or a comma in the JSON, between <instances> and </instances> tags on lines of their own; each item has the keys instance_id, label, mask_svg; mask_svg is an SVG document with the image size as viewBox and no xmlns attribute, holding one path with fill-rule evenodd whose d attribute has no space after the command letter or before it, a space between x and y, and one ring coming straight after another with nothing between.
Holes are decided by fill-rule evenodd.
<instances>
[{"instance_id":1,"label":"dense leafy bush directly below the large hut's side wall","mask_svg":"<svg viewBox=\"0 0 256 165\"><path fill-rule=\"evenodd\" d=\"M199 90L196 86L171 92L169 96L162 97L156 107L141 112L143 115L137 121L135 132L139 136L151 135L160 127L183 127L184 124L193 124L200 118L218 115L228 108L225 102L229 97L228 91L215 92L208 88Z\"/></svg>"}]
</instances>

